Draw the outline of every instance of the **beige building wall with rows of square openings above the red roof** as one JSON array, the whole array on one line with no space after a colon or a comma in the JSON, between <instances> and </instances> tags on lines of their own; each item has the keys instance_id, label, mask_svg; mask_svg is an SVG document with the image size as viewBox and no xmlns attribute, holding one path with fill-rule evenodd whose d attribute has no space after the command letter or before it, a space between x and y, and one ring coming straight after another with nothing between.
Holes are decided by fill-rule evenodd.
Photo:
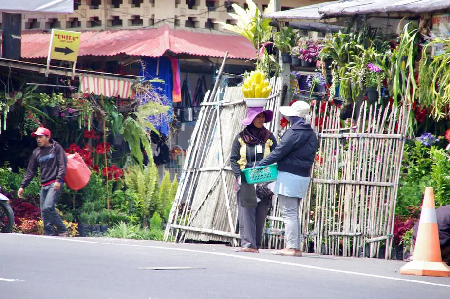
<instances>
[{"instance_id":1,"label":"beige building wall with rows of square openings above the red roof","mask_svg":"<svg viewBox=\"0 0 450 299\"><path fill-rule=\"evenodd\" d=\"M280 0L281 10L326 0ZM191 3L188 5L187 3ZM245 0L234 0L244 7ZM262 10L269 0L256 0ZM225 0L74 0L75 11L66 15L23 14L22 29L93 30L159 26L219 30L214 21L234 23ZM208 10L214 7L214 11ZM1 15L0 15L1 19ZM1 22L1 20L0 20Z\"/></svg>"}]
</instances>

